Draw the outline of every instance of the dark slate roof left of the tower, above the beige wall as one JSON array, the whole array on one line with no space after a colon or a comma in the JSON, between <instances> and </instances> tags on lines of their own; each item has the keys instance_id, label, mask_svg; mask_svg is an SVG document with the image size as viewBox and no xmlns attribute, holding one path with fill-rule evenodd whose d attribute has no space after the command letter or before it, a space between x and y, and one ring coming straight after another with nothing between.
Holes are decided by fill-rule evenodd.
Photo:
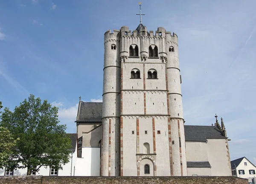
<instances>
[{"instance_id":1,"label":"dark slate roof left of the tower, above the beige wall","mask_svg":"<svg viewBox=\"0 0 256 184\"><path fill-rule=\"evenodd\" d=\"M79 118L76 122L102 122L102 102L80 102Z\"/></svg>"}]
</instances>

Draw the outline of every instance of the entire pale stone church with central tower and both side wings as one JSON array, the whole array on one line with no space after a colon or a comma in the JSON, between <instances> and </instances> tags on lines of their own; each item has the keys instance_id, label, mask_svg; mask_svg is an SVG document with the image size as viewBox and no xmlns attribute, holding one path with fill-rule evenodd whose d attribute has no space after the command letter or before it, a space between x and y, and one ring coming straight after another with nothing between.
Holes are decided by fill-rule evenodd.
<instances>
[{"instance_id":1,"label":"entire pale stone church with central tower and both side wings","mask_svg":"<svg viewBox=\"0 0 256 184\"><path fill-rule=\"evenodd\" d=\"M231 176L223 120L184 125L177 34L122 26L104 50L103 102L80 98L76 118L90 176Z\"/></svg>"}]
</instances>

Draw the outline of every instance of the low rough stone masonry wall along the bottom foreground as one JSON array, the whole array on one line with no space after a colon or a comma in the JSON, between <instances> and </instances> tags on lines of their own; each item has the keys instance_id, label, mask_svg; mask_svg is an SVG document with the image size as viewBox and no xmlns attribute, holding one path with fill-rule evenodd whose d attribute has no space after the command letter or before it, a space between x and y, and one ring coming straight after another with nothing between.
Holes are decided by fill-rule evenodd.
<instances>
[{"instance_id":1,"label":"low rough stone masonry wall along the bottom foreground","mask_svg":"<svg viewBox=\"0 0 256 184\"><path fill-rule=\"evenodd\" d=\"M84 177L84 176L0 176L0 184L248 184L233 176L172 177Z\"/></svg>"}]
</instances>

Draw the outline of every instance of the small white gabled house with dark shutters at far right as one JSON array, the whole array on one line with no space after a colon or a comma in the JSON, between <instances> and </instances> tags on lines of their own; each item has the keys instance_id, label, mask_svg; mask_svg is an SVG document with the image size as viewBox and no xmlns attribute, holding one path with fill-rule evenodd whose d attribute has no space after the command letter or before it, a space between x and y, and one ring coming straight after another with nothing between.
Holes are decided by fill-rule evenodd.
<instances>
[{"instance_id":1,"label":"small white gabled house with dark shutters at far right","mask_svg":"<svg viewBox=\"0 0 256 184\"><path fill-rule=\"evenodd\" d=\"M232 176L247 178L253 184L256 183L255 170L256 166L245 157L231 161Z\"/></svg>"}]
</instances>

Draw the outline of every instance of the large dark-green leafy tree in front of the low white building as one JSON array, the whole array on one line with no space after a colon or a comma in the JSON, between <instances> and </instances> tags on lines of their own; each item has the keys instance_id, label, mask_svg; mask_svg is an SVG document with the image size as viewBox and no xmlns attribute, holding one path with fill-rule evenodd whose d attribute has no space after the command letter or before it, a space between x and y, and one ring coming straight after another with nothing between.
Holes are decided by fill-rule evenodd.
<instances>
[{"instance_id":1,"label":"large dark-green leafy tree in front of the low white building","mask_svg":"<svg viewBox=\"0 0 256 184\"><path fill-rule=\"evenodd\" d=\"M41 167L62 169L69 162L71 139L65 133L66 125L59 125L58 108L47 100L30 95L14 111L5 108L0 126L6 127L17 141L10 155L9 166L28 168L38 172Z\"/></svg>"}]
</instances>

